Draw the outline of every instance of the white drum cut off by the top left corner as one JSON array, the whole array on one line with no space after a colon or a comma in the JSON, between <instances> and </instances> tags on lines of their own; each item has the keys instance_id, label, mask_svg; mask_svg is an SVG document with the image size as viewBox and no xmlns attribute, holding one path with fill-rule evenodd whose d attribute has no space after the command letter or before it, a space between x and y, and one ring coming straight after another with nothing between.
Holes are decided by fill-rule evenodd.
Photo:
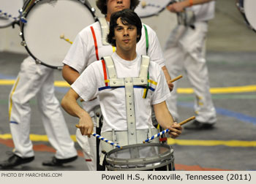
<instances>
[{"instance_id":1,"label":"white drum cut off by the top left corner","mask_svg":"<svg viewBox=\"0 0 256 184\"><path fill-rule=\"evenodd\" d=\"M11 26L19 20L20 9L23 7L23 0L1 0L0 4L0 28Z\"/></svg>"}]
</instances>

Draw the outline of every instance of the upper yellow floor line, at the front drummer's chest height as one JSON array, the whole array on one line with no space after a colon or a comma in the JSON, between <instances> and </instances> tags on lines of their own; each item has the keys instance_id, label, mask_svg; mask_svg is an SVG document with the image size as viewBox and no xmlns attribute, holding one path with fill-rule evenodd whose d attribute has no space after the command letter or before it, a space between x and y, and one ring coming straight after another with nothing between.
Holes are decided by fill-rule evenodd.
<instances>
[{"instance_id":1,"label":"upper yellow floor line, at the front drummer's chest height","mask_svg":"<svg viewBox=\"0 0 256 184\"><path fill-rule=\"evenodd\" d=\"M0 80L0 85L13 85L15 80ZM54 82L56 87L69 88L69 84L63 80L56 80ZM178 88L178 93L191 94L194 93L192 88ZM256 92L256 85L244 85L244 86L233 86L233 87L223 87L223 88L211 88L210 92L213 94L217 93L249 93Z\"/></svg>"}]
</instances>

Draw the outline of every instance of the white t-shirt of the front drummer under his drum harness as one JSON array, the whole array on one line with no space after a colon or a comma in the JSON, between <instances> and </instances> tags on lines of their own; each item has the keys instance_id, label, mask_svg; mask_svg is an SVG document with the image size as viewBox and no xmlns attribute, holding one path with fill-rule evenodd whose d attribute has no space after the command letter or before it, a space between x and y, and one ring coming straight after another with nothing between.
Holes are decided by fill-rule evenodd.
<instances>
[{"instance_id":1,"label":"white t-shirt of the front drummer under his drum harness","mask_svg":"<svg viewBox=\"0 0 256 184\"><path fill-rule=\"evenodd\" d=\"M113 53L112 58L118 78L139 76L140 55L133 61L125 61L116 53ZM144 88L134 88L136 129L148 129L149 125L152 126L151 104L159 104L170 96L170 90L161 67L151 61L148 72L150 80L157 84L150 83L146 99L143 99ZM99 96L104 117L102 132L112 129L127 131L125 88L105 87L102 61L96 61L88 66L71 87L84 101Z\"/></svg>"}]
</instances>

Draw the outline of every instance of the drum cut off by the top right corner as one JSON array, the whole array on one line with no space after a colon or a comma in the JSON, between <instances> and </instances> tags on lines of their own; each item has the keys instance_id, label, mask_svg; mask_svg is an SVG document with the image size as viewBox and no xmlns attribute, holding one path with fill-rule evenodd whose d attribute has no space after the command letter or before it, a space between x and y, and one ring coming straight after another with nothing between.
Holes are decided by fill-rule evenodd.
<instances>
[{"instance_id":1,"label":"drum cut off by the top right corner","mask_svg":"<svg viewBox=\"0 0 256 184\"><path fill-rule=\"evenodd\" d=\"M236 5L243 15L246 24L256 32L256 1L255 0L237 0Z\"/></svg>"}]
</instances>

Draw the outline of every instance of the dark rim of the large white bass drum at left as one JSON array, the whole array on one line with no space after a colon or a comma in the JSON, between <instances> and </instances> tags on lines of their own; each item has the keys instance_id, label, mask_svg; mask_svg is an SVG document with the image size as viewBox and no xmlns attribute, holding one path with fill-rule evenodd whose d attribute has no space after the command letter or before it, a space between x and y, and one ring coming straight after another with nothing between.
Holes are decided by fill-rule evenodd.
<instances>
[{"instance_id":1,"label":"dark rim of the large white bass drum at left","mask_svg":"<svg viewBox=\"0 0 256 184\"><path fill-rule=\"evenodd\" d=\"M37 1L34 1L33 4L31 4L31 6L28 8L28 10L26 12L22 12L22 15L21 15L21 18L26 18L27 15L29 15L29 12L31 11L31 9L39 2L39 1L48 1L48 0L37 0ZM73 0L72 0L73 1ZM88 9L89 9L89 12L91 12L91 15L92 17L94 18L94 22L96 20L96 16L94 15L94 12L92 11L92 8L89 6L89 4L86 4L86 1L83 3L81 2L80 0L75 0L75 1L79 1L81 4L83 4L84 6L86 6ZM23 6L23 9L28 5L29 3L29 0L25 1L24 3L24 6ZM26 43L26 40L25 40L25 37L24 37L24 25L26 25L26 23L23 23L21 20L20 20L20 37L22 39L22 43L25 42ZM31 51L29 50L29 47L28 45L23 45L26 49L26 51L29 53L29 55L31 55L32 58L34 58L34 60L36 62L38 62L39 64L42 64L44 66L48 66L52 69L62 69L63 68L63 64L62 66L52 66L52 65L49 65L49 64L45 64L44 61L41 61L39 60L36 56L34 56L33 53L31 53Z\"/></svg>"}]
</instances>

